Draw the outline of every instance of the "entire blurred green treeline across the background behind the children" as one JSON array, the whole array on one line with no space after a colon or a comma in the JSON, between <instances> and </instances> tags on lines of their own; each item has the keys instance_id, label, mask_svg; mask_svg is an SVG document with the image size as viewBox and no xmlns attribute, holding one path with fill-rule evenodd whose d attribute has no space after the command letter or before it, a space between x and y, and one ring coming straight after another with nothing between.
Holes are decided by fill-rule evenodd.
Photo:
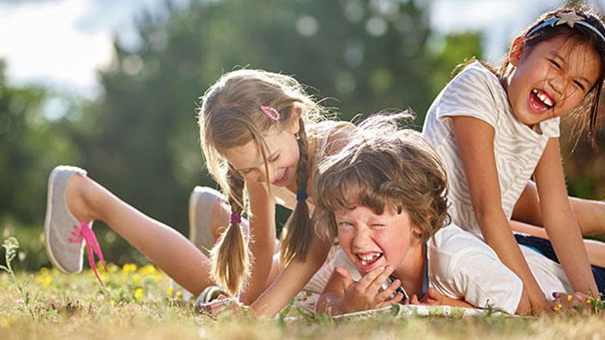
<instances>
[{"instance_id":1,"label":"entire blurred green treeline across the background behind the children","mask_svg":"<svg viewBox=\"0 0 605 340\"><path fill-rule=\"evenodd\" d=\"M419 128L454 66L481 52L478 34L432 32L427 6L415 0L166 1L161 12L137 16L138 43L114 39L113 62L99 71L102 94L94 102L8 87L0 69L0 217L10 212L17 225L40 227L47 174L70 163L186 231L190 190L214 186L199 147L199 97L239 67L295 76L318 100L329 98L325 105L340 106L343 120L411 107ZM285 220L287 212L278 212ZM109 260L138 259L98 226Z\"/></svg>"}]
</instances>

